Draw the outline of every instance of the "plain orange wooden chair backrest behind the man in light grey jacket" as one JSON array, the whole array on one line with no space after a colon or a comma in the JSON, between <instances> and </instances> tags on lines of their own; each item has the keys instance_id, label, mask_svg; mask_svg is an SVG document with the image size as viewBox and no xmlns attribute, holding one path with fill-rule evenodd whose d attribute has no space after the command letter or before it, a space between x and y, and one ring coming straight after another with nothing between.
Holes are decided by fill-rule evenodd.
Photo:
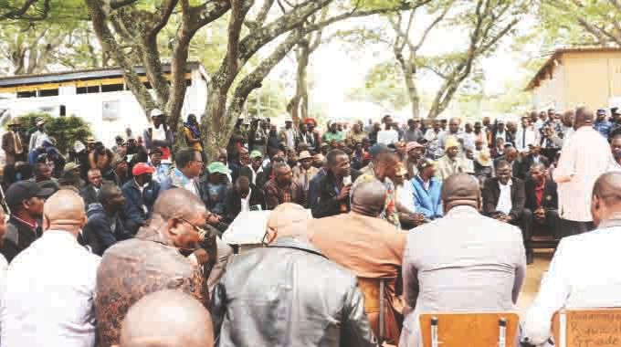
<instances>
[{"instance_id":1,"label":"plain orange wooden chair backrest behind the man in light grey jacket","mask_svg":"<svg viewBox=\"0 0 621 347\"><path fill-rule=\"evenodd\" d=\"M423 347L516 347L515 312L425 313L419 317Z\"/></svg>"}]
</instances>

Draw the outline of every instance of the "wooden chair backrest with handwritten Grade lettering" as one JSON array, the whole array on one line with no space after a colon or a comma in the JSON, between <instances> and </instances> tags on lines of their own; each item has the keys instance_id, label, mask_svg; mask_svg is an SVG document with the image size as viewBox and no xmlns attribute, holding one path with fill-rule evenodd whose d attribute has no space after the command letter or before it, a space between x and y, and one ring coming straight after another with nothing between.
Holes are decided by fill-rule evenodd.
<instances>
[{"instance_id":1,"label":"wooden chair backrest with handwritten Grade lettering","mask_svg":"<svg viewBox=\"0 0 621 347\"><path fill-rule=\"evenodd\" d=\"M621 346L621 308L560 310L552 320L556 346Z\"/></svg>"}]
</instances>

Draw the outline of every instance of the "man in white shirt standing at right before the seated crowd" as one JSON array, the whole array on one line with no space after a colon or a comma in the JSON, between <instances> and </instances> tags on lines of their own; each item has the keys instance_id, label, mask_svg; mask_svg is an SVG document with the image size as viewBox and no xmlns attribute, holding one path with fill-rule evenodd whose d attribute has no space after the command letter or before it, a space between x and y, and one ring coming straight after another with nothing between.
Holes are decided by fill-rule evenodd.
<instances>
[{"instance_id":1,"label":"man in white shirt standing at right before the seated crowd","mask_svg":"<svg viewBox=\"0 0 621 347\"><path fill-rule=\"evenodd\" d=\"M564 145L558 167L554 169L564 236L593 229L593 184L597 177L615 165L608 142L593 129L593 120L592 110L584 107L576 110L574 135Z\"/></svg>"}]
</instances>

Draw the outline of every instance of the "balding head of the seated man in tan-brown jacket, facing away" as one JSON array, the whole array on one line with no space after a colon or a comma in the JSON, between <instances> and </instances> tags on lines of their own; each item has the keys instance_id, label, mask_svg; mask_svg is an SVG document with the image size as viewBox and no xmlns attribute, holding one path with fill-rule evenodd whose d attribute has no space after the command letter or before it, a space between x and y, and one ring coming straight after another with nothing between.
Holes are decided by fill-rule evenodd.
<instances>
[{"instance_id":1,"label":"balding head of the seated man in tan-brown jacket, facing away","mask_svg":"<svg viewBox=\"0 0 621 347\"><path fill-rule=\"evenodd\" d=\"M352 211L364 216L380 216L386 202L386 188L377 179L356 184L352 190Z\"/></svg>"}]
</instances>

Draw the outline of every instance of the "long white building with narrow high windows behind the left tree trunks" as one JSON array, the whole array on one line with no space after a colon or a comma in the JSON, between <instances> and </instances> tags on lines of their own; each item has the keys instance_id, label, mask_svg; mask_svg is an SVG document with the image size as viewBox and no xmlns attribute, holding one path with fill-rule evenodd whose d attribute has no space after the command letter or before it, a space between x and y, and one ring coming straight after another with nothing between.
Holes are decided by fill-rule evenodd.
<instances>
[{"instance_id":1,"label":"long white building with narrow high windows behind the left tree trunks","mask_svg":"<svg viewBox=\"0 0 621 347\"><path fill-rule=\"evenodd\" d=\"M145 86L151 89L145 70L136 67ZM170 78L170 65L163 65ZM207 100L207 76L199 63L187 64L182 116L200 116ZM12 117L31 112L46 112L54 117L75 115L88 121L95 137L106 145L114 136L131 128L142 135L148 121L138 101L127 89L121 68L93 68L49 74L0 78L0 114Z\"/></svg>"}]
</instances>

